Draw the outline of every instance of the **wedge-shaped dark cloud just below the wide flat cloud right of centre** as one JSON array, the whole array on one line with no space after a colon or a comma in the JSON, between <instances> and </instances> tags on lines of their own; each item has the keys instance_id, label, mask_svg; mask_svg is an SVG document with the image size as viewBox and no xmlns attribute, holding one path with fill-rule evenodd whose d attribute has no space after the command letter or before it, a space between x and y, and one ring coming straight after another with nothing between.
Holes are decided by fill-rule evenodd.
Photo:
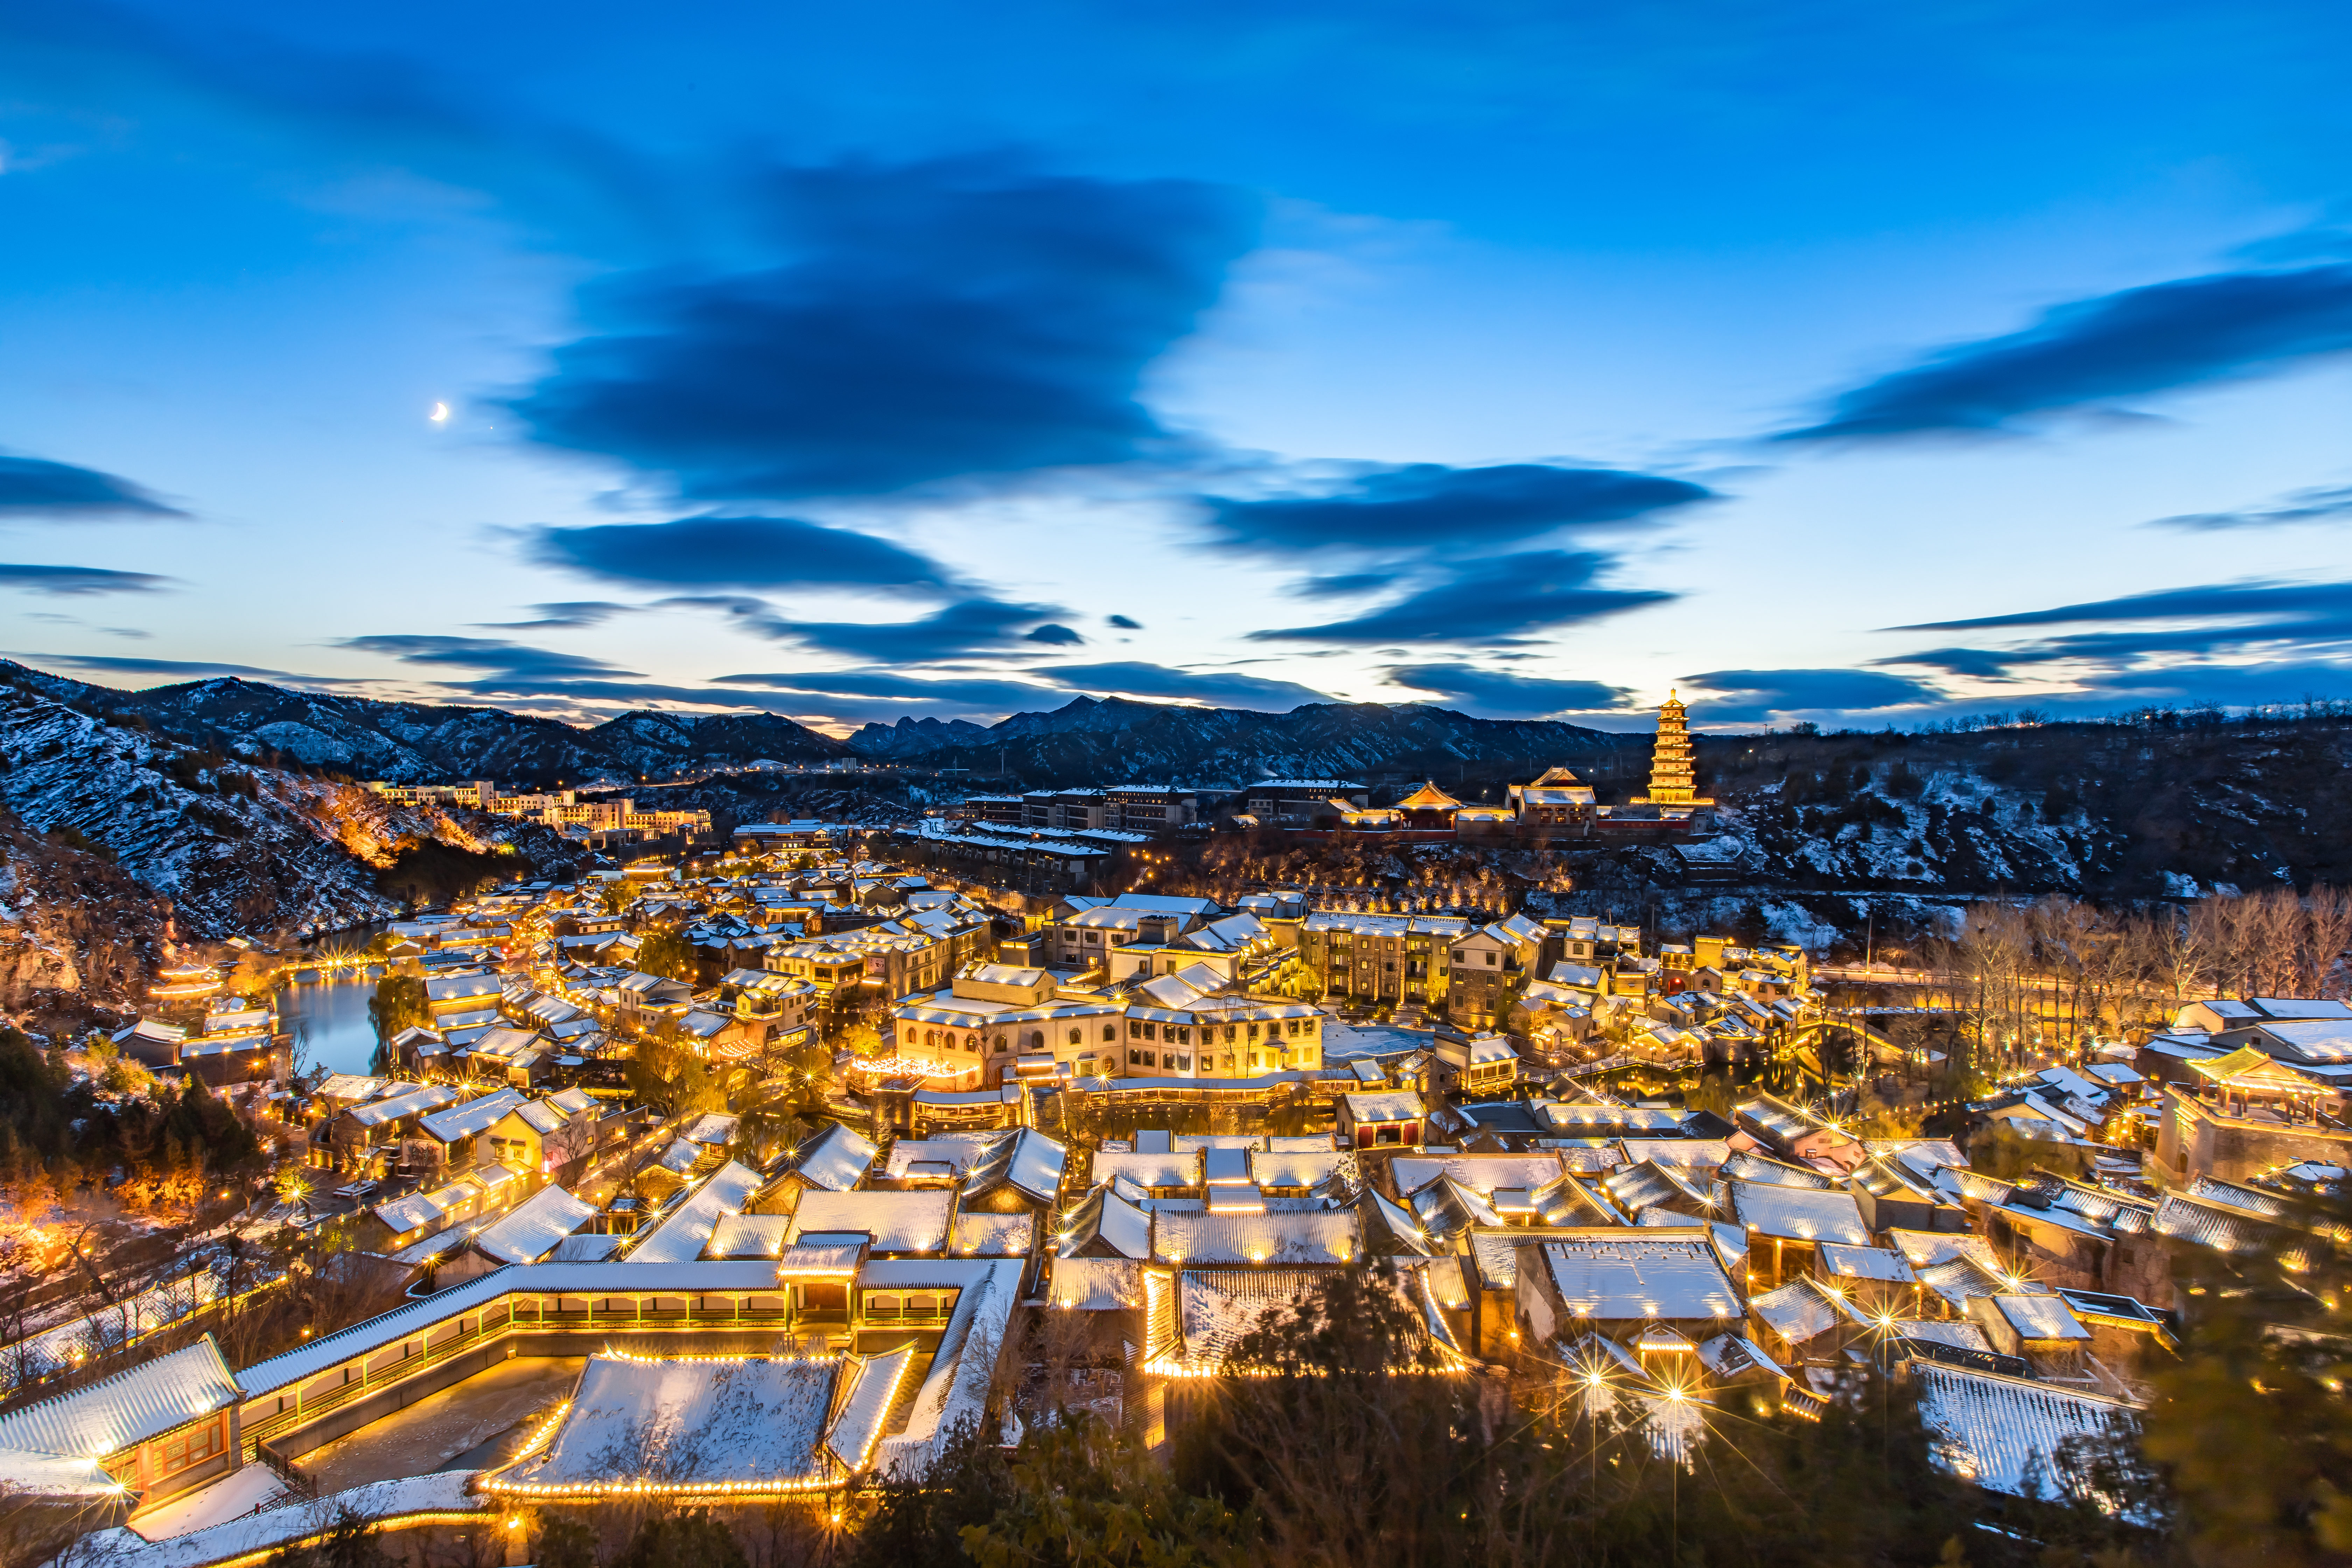
<instances>
[{"instance_id":1,"label":"wedge-shaped dark cloud just below the wide flat cloud right of centre","mask_svg":"<svg viewBox=\"0 0 2352 1568\"><path fill-rule=\"evenodd\" d=\"M1595 588L1613 557L1529 550L1465 564L1395 604L1350 621L1251 632L1254 642L1489 642L1663 604L1670 592Z\"/></svg>"}]
</instances>

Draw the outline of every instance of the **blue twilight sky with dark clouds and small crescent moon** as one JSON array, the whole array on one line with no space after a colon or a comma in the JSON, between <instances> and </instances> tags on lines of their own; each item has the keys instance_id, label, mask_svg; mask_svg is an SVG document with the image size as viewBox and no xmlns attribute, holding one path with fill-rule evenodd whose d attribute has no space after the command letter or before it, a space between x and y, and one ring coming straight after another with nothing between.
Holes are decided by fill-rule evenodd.
<instances>
[{"instance_id":1,"label":"blue twilight sky with dark clouds and small crescent moon","mask_svg":"<svg viewBox=\"0 0 2352 1568\"><path fill-rule=\"evenodd\" d=\"M2343 5L0 0L0 651L840 733L2352 698Z\"/></svg>"}]
</instances>

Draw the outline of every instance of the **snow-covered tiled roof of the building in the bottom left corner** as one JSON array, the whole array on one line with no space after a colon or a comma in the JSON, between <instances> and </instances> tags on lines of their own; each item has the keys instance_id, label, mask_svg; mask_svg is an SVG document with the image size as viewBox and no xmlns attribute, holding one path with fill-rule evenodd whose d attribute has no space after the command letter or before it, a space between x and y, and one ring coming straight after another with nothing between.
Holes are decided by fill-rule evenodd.
<instances>
[{"instance_id":1,"label":"snow-covered tiled roof of the building in the bottom left corner","mask_svg":"<svg viewBox=\"0 0 2352 1568\"><path fill-rule=\"evenodd\" d=\"M198 1415L233 1406L238 1396L238 1380L207 1333L186 1349L87 1389L0 1415L0 1476L16 1481L26 1474L35 1488L73 1493L118 1490L103 1472L92 1479L73 1462L136 1448Z\"/></svg>"}]
</instances>

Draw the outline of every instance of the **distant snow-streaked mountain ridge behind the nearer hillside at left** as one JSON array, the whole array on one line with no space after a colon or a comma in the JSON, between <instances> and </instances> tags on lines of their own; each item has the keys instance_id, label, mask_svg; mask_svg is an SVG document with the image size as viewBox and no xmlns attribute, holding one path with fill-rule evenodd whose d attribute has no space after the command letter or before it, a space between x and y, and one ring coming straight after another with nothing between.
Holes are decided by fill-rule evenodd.
<instances>
[{"instance_id":1,"label":"distant snow-streaked mountain ridge behind the nearer hillside at left","mask_svg":"<svg viewBox=\"0 0 2352 1568\"><path fill-rule=\"evenodd\" d=\"M136 717L233 757L289 759L350 778L586 783L849 755L840 741L779 715L630 712L579 729L499 708L379 703L247 679L118 691L7 661L0 661L0 677L89 712Z\"/></svg>"}]
</instances>

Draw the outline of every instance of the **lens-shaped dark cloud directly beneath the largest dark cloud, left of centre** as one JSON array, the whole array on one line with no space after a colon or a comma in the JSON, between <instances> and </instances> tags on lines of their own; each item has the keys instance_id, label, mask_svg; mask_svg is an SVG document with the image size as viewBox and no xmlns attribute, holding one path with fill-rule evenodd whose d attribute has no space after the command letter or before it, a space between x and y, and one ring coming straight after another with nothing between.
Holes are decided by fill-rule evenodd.
<instances>
[{"instance_id":1,"label":"lens-shaped dark cloud directly beneath the largest dark cloud, left of centre","mask_svg":"<svg viewBox=\"0 0 2352 1568\"><path fill-rule=\"evenodd\" d=\"M877 588L938 592L953 578L887 538L797 517L680 517L541 529L532 552L616 583L668 588Z\"/></svg>"}]
</instances>

